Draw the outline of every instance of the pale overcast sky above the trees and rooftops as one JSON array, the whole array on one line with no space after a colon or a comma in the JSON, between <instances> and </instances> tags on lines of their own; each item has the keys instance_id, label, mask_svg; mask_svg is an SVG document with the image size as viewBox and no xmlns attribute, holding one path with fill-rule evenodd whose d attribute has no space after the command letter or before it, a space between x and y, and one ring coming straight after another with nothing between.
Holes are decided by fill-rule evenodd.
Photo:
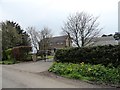
<instances>
[{"instance_id":1,"label":"pale overcast sky above the trees and rooftops","mask_svg":"<svg viewBox=\"0 0 120 90\"><path fill-rule=\"evenodd\" d=\"M0 21L12 20L23 29L34 26L41 30L44 26L60 35L63 22L69 14L87 12L99 16L104 29L102 34L118 31L119 0L0 0Z\"/></svg>"}]
</instances>

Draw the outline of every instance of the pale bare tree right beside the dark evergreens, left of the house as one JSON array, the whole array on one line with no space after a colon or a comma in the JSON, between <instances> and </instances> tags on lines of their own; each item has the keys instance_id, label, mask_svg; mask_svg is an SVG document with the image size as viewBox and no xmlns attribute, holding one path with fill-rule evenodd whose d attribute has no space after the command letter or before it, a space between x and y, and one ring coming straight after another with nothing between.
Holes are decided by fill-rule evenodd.
<instances>
[{"instance_id":1,"label":"pale bare tree right beside the dark evergreens, left of the house","mask_svg":"<svg viewBox=\"0 0 120 90\"><path fill-rule=\"evenodd\" d=\"M28 27L27 32L31 38L31 44L36 49L39 50L39 42L41 40L40 33L35 29L35 27Z\"/></svg>"}]
</instances>

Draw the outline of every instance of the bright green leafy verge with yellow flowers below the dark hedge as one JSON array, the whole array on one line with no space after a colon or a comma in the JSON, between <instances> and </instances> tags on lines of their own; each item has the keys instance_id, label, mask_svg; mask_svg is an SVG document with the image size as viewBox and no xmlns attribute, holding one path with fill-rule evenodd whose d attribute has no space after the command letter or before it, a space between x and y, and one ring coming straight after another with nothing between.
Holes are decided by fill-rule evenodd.
<instances>
[{"instance_id":1,"label":"bright green leafy verge with yellow flowers below the dark hedge","mask_svg":"<svg viewBox=\"0 0 120 90\"><path fill-rule=\"evenodd\" d=\"M80 64L55 62L49 71L68 78L120 84L120 67L109 68L100 64L91 65L83 62Z\"/></svg>"}]
</instances>

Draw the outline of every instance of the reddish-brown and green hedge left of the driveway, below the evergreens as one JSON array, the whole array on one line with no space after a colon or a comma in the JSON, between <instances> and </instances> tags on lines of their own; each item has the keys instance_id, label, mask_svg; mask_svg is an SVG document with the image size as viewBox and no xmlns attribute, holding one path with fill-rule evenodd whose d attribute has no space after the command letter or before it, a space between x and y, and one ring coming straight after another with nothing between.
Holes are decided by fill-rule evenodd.
<instances>
[{"instance_id":1,"label":"reddish-brown and green hedge left of the driveway, below the evergreens","mask_svg":"<svg viewBox=\"0 0 120 90\"><path fill-rule=\"evenodd\" d=\"M25 61L31 59L31 56L29 55L30 51L32 51L32 47L30 46L13 47L3 51L2 60Z\"/></svg>"}]
</instances>

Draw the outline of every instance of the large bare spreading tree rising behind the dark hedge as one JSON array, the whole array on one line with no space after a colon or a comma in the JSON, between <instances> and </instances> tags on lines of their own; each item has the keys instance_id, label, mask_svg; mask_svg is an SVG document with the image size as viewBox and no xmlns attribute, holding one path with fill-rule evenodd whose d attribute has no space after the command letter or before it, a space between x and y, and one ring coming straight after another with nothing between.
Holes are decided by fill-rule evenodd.
<instances>
[{"instance_id":1,"label":"large bare spreading tree rising behind the dark hedge","mask_svg":"<svg viewBox=\"0 0 120 90\"><path fill-rule=\"evenodd\" d=\"M62 29L63 32L70 35L78 47L84 47L90 44L92 39L97 37L101 31L101 28L98 28L97 19L98 17L84 12L76 13L68 17Z\"/></svg>"}]
</instances>

